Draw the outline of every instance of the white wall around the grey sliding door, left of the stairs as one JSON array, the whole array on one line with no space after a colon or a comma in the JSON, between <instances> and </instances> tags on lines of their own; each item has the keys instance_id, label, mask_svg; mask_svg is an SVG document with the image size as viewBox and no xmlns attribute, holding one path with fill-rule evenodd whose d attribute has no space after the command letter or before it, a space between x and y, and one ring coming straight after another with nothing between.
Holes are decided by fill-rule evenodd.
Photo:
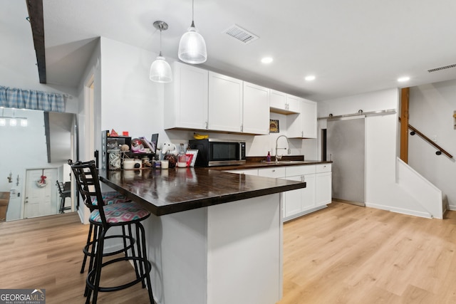
<instances>
[{"instance_id":1,"label":"white wall around the grey sliding door, left of the stairs","mask_svg":"<svg viewBox=\"0 0 456 304\"><path fill-rule=\"evenodd\" d=\"M318 117L398 110L397 89L318 102ZM324 127L320 122L319 127ZM423 216L425 210L396 184L398 114L366 117L366 206Z\"/></svg>"}]
</instances>

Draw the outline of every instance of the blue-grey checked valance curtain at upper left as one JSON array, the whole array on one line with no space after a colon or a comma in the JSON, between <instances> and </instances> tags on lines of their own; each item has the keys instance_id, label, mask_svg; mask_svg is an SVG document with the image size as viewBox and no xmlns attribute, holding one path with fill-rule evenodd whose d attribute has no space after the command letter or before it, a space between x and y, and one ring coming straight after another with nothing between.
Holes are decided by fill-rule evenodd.
<instances>
[{"instance_id":1,"label":"blue-grey checked valance curtain at upper left","mask_svg":"<svg viewBox=\"0 0 456 304\"><path fill-rule=\"evenodd\" d=\"M0 107L64 112L65 102L62 94L9 88L0 85Z\"/></svg>"}]
</instances>

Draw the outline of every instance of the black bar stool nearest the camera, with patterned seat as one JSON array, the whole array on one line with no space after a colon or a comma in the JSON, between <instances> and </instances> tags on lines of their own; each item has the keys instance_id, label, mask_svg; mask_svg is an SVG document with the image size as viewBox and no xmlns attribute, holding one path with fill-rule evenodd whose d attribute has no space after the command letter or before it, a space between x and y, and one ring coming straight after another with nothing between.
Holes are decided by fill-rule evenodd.
<instances>
[{"instance_id":1,"label":"black bar stool nearest the camera, with patterned seat","mask_svg":"<svg viewBox=\"0 0 456 304\"><path fill-rule=\"evenodd\" d=\"M95 162L68 162L68 164L71 165L71 169L75 175L83 202L91 211L89 221L95 228L95 239L90 251L91 256L94 257L94 264L93 268L88 271L86 279L86 289L88 290L86 303L89 304L90 297L92 297L92 303L95 304L97 302L98 292L122 290L140 282L142 283L142 288L145 288L147 285L150 303L154 303L152 284L150 282L150 270L152 266L147 261L145 231L141 224L141 221L150 216L150 212L134 202L105 204ZM97 204L93 204L95 198ZM106 236L106 233L110 228L115 226L121 226L123 229L128 230L128 236L136 241L130 244L131 246L128 252L125 250L125 256L113 258L103 263L104 243L105 239L109 237ZM136 279L123 285L101 287L100 276L103 267L119 261L133 261Z\"/></svg>"}]
</instances>

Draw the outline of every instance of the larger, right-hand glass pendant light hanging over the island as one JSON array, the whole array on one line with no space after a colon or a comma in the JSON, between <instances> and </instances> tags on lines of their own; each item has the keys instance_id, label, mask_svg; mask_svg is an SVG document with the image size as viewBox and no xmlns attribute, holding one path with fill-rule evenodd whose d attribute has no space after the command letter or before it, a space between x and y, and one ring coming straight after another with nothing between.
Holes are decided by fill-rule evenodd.
<instances>
[{"instance_id":1,"label":"larger, right-hand glass pendant light hanging over the island","mask_svg":"<svg viewBox=\"0 0 456 304\"><path fill-rule=\"evenodd\" d=\"M206 42L198 33L193 21L193 1L192 0L192 25L187 29L187 33L182 35L179 42L179 52L177 56L185 63L204 63L207 59Z\"/></svg>"}]
</instances>

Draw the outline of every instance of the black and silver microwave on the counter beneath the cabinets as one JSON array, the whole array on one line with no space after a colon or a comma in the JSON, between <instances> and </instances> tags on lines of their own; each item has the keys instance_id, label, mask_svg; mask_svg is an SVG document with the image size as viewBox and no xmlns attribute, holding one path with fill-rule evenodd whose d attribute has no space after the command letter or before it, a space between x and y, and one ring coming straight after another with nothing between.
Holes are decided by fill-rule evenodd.
<instances>
[{"instance_id":1,"label":"black and silver microwave on the counter beneath the cabinets","mask_svg":"<svg viewBox=\"0 0 456 304\"><path fill-rule=\"evenodd\" d=\"M189 140L190 149L198 150L195 166L211 167L245 164L245 142L237 140Z\"/></svg>"}]
</instances>

